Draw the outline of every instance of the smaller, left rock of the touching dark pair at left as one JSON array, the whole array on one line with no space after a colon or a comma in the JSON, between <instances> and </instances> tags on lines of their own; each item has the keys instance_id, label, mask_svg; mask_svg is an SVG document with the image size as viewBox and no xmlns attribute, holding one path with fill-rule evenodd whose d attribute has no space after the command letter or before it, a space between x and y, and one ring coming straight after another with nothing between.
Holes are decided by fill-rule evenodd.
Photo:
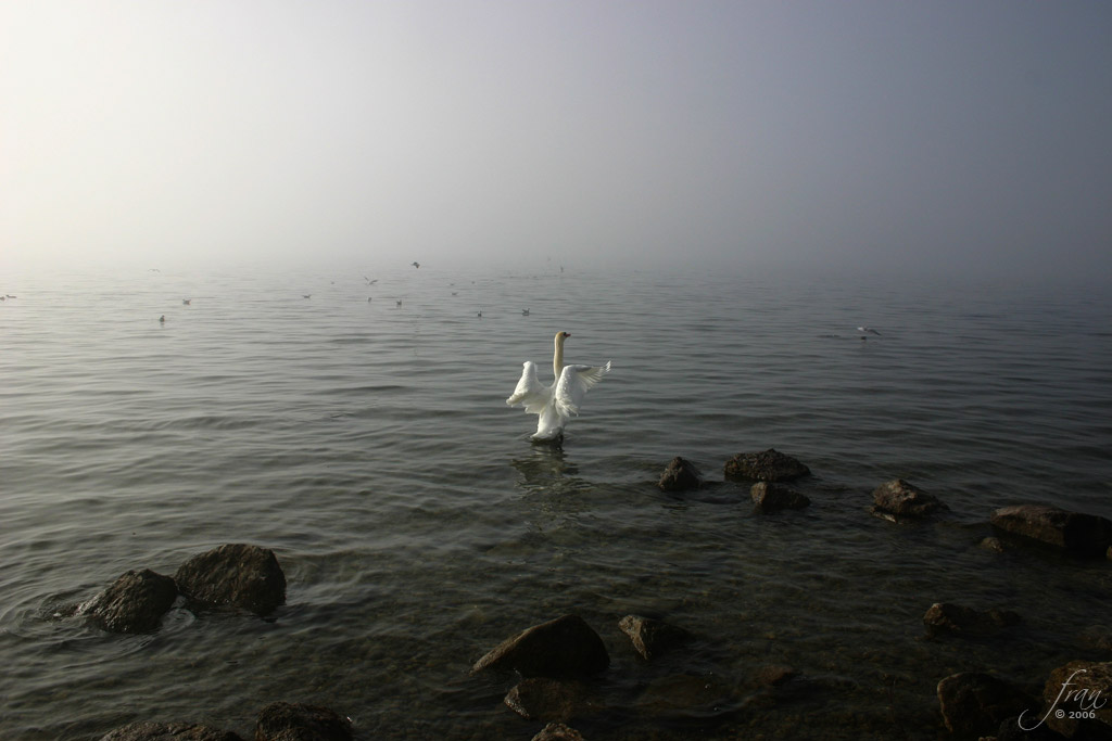
<instances>
[{"instance_id":1,"label":"smaller, left rock of the touching dark pair at left","mask_svg":"<svg viewBox=\"0 0 1112 741\"><path fill-rule=\"evenodd\" d=\"M173 580L150 569L128 571L108 589L80 604L77 614L115 633L149 633L178 598Z\"/></svg>"}]
</instances>

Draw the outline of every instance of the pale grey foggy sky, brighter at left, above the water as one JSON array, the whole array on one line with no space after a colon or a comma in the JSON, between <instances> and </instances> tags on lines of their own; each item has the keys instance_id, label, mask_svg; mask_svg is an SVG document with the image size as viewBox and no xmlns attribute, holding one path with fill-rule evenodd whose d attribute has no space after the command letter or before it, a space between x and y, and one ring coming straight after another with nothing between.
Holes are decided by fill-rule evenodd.
<instances>
[{"instance_id":1,"label":"pale grey foggy sky, brighter at left, above the water","mask_svg":"<svg viewBox=\"0 0 1112 741\"><path fill-rule=\"evenodd\" d=\"M0 6L0 268L1112 272L1112 3Z\"/></svg>"}]
</instances>

